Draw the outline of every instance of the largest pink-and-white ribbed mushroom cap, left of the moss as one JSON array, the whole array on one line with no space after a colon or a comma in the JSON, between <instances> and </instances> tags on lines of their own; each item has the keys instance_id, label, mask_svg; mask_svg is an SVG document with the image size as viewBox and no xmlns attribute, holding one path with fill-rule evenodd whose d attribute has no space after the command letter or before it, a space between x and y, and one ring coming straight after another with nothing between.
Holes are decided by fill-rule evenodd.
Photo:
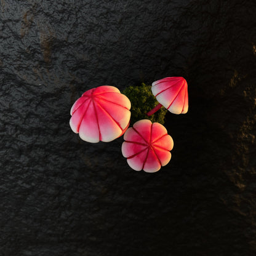
<instances>
[{"instance_id":1,"label":"largest pink-and-white ribbed mushroom cap, left of the moss","mask_svg":"<svg viewBox=\"0 0 256 256\"><path fill-rule=\"evenodd\" d=\"M70 114L70 127L82 140L111 142L129 127L130 100L114 86L99 86L84 92Z\"/></svg>"}]
</instances>

